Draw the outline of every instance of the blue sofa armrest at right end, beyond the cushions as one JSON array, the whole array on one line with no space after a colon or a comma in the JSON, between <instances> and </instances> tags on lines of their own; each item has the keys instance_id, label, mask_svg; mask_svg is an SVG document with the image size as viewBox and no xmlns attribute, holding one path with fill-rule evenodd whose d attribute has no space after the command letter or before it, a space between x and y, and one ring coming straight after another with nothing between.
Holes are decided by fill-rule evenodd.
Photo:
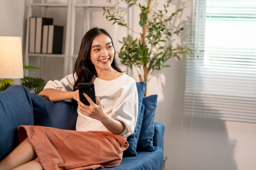
<instances>
[{"instance_id":1,"label":"blue sofa armrest at right end, beyond the cushions","mask_svg":"<svg viewBox=\"0 0 256 170\"><path fill-rule=\"evenodd\" d=\"M164 150L164 124L154 122L154 146Z\"/></svg>"}]
</instances>

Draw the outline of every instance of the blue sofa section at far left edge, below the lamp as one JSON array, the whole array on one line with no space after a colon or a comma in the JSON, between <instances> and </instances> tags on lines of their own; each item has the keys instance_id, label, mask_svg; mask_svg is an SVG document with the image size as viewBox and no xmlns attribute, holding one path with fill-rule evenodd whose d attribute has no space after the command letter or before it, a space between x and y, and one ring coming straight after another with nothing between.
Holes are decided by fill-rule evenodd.
<instances>
[{"instance_id":1,"label":"blue sofa section at far left edge, below the lamp","mask_svg":"<svg viewBox=\"0 0 256 170\"><path fill-rule=\"evenodd\" d=\"M33 108L29 89L10 86L0 92L0 160L18 145L19 125L33 125Z\"/></svg>"}]
</instances>

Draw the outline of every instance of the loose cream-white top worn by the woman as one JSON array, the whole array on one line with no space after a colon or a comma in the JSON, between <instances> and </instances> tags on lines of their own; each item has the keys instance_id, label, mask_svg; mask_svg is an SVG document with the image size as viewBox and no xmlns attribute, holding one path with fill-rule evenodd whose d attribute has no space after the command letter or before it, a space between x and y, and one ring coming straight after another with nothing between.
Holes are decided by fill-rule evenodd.
<instances>
[{"instance_id":1,"label":"loose cream-white top worn by the woman","mask_svg":"<svg viewBox=\"0 0 256 170\"><path fill-rule=\"evenodd\" d=\"M122 74L111 81L96 78L93 83L95 84L95 95L100 99L104 112L124 124L124 132L120 135L125 137L132 135L138 115L138 94L134 79L127 74ZM44 89L73 91L74 84L73 74L69 74L60 81L48 81ZM80 113L79 108L76 130L109 132L99 120Z\"/></svg>"}]
</instances>

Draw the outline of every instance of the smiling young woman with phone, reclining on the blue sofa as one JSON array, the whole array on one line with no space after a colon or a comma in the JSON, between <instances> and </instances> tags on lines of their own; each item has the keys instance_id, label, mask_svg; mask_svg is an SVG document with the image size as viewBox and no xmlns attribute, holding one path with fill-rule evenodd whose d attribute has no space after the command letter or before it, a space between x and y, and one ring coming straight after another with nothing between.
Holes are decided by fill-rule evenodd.
<instances>
[{"instance_id":1,"label":"smiling young woman with phone, reclining on the blue sofa","mask_svg":"<svg viewBox=\"0 0 256 170\"><path fill-rule=\"evenodd\" d=\"M39 94L50 101L78 101L75 130L22 125L23 140L0 163L4 169L97 169L117 166L128 147L127 136L137 121L137 86L114 60L114 45L103 29L92 28L82 38L73 74L48 81ZM95 84L96 103L80 101L78 84Z\"/></svg>"}]
</instances>

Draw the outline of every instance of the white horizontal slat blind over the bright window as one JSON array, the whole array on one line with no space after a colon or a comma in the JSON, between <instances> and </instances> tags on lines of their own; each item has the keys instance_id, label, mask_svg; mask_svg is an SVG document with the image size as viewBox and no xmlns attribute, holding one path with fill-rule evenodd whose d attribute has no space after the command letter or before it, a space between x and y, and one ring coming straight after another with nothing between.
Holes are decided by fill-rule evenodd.
<instances>
[{"instance_id":1,"label":"white horizontal slat blind over the bright window","mask_svg":"<svg viewBox=\"0 0 256 170\"><path fill-rule=\"evenodd\" d=\"M184 114L256 123L256 1L194 0Z\"/></svg>"}]
</instances>

